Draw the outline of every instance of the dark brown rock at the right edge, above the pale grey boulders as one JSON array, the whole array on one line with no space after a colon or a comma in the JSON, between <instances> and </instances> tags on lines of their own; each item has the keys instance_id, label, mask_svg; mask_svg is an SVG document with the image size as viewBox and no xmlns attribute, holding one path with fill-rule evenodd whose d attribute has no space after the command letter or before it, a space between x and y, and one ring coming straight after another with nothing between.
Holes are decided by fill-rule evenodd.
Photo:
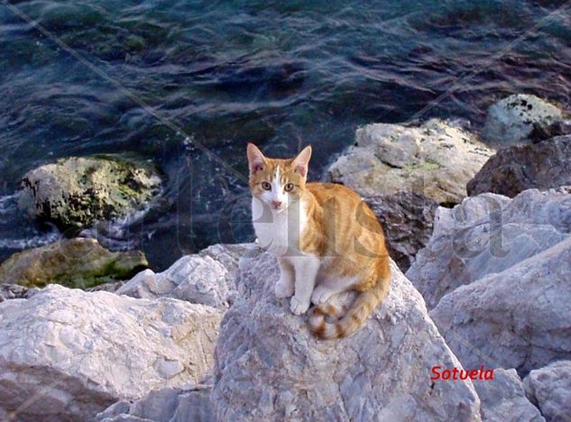
<instances>
[{"instance_id":1,"label":"dark brown rock at the right edge, above the pale grey boulders","mask_svg":"<svg viewBox=\"0 0 571 422\"><path fill-rule=\"evenodd\" d=\"M498 151L467 185L468 195L515 197L529 188L571 185L571 135Z\"/></svg>"}]
</instances>

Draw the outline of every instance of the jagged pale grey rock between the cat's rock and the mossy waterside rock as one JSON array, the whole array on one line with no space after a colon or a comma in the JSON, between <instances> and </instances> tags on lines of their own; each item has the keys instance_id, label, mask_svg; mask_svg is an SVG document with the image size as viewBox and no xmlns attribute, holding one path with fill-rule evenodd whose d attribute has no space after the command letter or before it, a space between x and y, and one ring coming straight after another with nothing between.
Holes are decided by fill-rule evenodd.
<instances>
[{"instance_id":1,"label":"jagged pale grey rock between the cat's rock and the mossy waterside rock","mask_svg":"<svg viewBox=\"0 0 571 422\"><path fill-rule=\"evenodd\" d=\"M115 293L134 298L166 296L224 309L234 301L235 270L245 250L244 244L216 244L183 256L161 273L140 272Z\"/></svg>"}]
</instances>

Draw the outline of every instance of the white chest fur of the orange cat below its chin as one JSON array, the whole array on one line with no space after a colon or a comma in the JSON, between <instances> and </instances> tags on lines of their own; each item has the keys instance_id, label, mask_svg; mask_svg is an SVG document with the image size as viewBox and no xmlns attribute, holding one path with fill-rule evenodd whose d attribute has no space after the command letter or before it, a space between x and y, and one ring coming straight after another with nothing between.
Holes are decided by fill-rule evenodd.
<instances>
[{"instance_id":1,"label":"white chest fur of the orange cat below its chin","mask_svg":"<svg viewBox=\"0 0 571 422\"><path fill-rule=\"evenodd\" d=\"M260 199L252 198L252 222L260 246L276 255L299 252L299 237L307 225L303 203L273 213Z\"/></svg>"}]
</instances>

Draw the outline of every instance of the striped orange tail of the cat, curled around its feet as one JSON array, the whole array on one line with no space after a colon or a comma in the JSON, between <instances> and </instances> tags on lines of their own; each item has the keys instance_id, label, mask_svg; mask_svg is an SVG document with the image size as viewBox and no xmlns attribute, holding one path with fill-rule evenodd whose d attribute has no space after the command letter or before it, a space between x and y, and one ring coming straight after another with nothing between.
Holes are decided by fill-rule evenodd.
<instances>
[{"instance_id":1,"label":"striped orange tail of the cat, curled around its feet","mask_svg":"<svg viewBox=\"0 0 571 422\"><path fill-rule=\"evenodd\" d=\"M391 283L390 273L379 278L371 288L359 293L355 302L349 307L320 305L314 307L309 314L309 328L321 339L343 338L352 335L364 326L367 318L387 296ZM327 323L326 316L339 318L335 323Z\"/></svg>"}]
</instances>

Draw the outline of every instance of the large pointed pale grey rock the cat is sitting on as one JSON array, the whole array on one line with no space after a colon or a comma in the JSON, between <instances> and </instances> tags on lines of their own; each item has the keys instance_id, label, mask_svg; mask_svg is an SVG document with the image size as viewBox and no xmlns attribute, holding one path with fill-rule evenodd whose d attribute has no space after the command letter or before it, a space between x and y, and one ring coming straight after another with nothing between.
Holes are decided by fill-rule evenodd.
<instances>
[{"instance_id":1,"label":"large pointed pale grey rock the cat is sitting on","mask_svg":"<svg viewBox=\"0 0 571 422\"><path fill-rule=\"evenodd\" d=\"M391 271L389 296L362 330L319 341L275 298L275 258L241 260L216 344L217 420L478 420L470 381L430 382L433 365L460 363L394 262Z\"/></svg>"}]
</instances>

